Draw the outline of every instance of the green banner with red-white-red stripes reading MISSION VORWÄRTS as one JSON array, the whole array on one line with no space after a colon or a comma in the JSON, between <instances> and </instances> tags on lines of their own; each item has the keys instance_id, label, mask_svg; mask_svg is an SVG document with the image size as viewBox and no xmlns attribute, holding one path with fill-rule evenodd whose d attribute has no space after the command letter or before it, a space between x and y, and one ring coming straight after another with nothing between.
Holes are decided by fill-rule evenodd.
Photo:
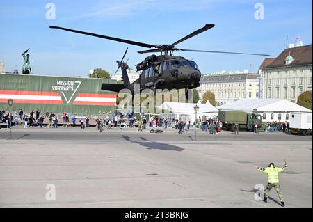
<instances>
[{"instance_id":1,"label":"green banner with red-white-red stripes reading MISSION VORW\u00c4RTS","mask_svg":"<svg viewBox=\"0 0 313 222\"><path fill-rule=\"evenodd\" d=\"M113 79L86 79L75 77L49 77L21 74L0 74L0 109L40 113L64 111L73 114L93 115L113 111L116 94L101 90L104 83Z\"/></svg>"}]
</instances>

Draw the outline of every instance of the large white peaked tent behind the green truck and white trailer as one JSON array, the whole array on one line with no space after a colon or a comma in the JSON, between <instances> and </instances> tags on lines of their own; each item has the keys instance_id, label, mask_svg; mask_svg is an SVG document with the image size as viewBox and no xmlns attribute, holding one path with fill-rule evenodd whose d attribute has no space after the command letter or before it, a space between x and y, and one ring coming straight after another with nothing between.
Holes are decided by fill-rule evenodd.
<instances>
[{"instance_id":1,"label":"large white peaked tent behind the green truck and white trailer","mask_svg":"<svg viewBox=\"0 0 313 222\"><path fill-rule=\"evenodd\" d=\"M247 113L252 113L253 109L257 109L263 122L289 121L290 113L312 113L310 109L280 99L242 99L216 108L220 111L244 111Z\"/></svg>"}]
</instances>

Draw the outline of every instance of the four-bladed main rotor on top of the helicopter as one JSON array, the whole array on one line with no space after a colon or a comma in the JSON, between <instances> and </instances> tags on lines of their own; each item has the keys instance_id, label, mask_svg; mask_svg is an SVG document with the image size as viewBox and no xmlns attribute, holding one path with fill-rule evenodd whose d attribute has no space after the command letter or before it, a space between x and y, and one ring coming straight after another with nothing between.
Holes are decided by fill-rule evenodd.
<instances>
[{"instance_id":1,"label":"four-bladed main rotor on top of the helicopter","mask_svg":"<svg viewBox=\"0 0 313 222\"><path fill-rule=\"evenodd\" d=\"M60 26L50 26L51 29L61 29L64 31L70 31L70 32L74 32L74 33L79 33L79 34L83 34L83 35L91 35L97 38L104 38L104 39L108 39L108 40L113 40L116 42L124 42L130 45L137 45L140 47L146 47L146 48L150 48L148 50L144 50L144 51L138 51L138 53L140 54L145 54L145 53L156 53L156 52L160 52L161 54L170 54L172 55L172 53L174 51L195 51L195 52L209 52L209 53L223 53L223 54L243 54L243 55L254 55L254 56L269 56L268 54L252 54L252 53L243 53L243 52L232 52L232 51L208 51L208 50L195 50L195 49L179 49L177 47L175 47L175 45L184 42L185 40L188 40L189 38L192 38L195 35L198 35L204 31L207 31L208 29L213 28L215 25L214 24L206 24L204 27L202 27L201 29L198 29L196 31L193 31L193 33L190 33L189 35L186 35L184 38L179 39L178 41L170 44L170 45L151 45L151 44L147 44L147 43L143 43L143 42L136 42L136 41L132 41L132 40L125 40L122 38L115 38L115 37L111 37L111 36L107 36L107 35L99 35L96 33L88 33L85 31L78 31L78 30L74 30L74 29L67 29L67 28L63 28Z\"/></svg>"}]
</instances>

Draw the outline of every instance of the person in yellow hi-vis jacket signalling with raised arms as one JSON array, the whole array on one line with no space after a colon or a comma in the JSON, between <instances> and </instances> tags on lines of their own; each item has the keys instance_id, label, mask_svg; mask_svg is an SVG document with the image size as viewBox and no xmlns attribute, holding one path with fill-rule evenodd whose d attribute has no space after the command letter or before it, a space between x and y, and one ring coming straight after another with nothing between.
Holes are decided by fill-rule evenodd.
<instances>
[{"instance_id":1,"label":"person in yellow hi-vis jacket signalling with raised arms","mask_svg":"<svg viewBox=\"0 0 313 222\"><path fill-rule=\"evenodd\" d=\"M257 170L262 173L267 173L268 184L266 186L264 202L267 202L268 194L273 187L275 187L275 191L278 194L278 198L280 198L280 205L284 207L284 197L282 196L282 189L280 189L278 173L284 171L287 168L287 164L285 163L283 167L276 167L274 163L268 165L267 168L259 168L257 166Z\"/></svg>"}]
</instances>

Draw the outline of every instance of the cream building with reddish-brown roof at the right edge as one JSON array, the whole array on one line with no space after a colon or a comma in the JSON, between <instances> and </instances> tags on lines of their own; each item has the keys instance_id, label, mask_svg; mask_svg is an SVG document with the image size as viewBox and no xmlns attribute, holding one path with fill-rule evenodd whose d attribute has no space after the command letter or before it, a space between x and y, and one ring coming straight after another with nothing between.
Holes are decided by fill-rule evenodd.
<instances>
[{"instance_id":1,"label":"cream building with reddish-brown roof at the right edge","mask_svg":"<svg viewBox=\"0 0 313 222\"><path fill-rule=\"evenodd\" d=\"M263 70L265 99L297 102L301 93L312 92L312 45L284 49Z\"/></svg>"}]
</instances>

